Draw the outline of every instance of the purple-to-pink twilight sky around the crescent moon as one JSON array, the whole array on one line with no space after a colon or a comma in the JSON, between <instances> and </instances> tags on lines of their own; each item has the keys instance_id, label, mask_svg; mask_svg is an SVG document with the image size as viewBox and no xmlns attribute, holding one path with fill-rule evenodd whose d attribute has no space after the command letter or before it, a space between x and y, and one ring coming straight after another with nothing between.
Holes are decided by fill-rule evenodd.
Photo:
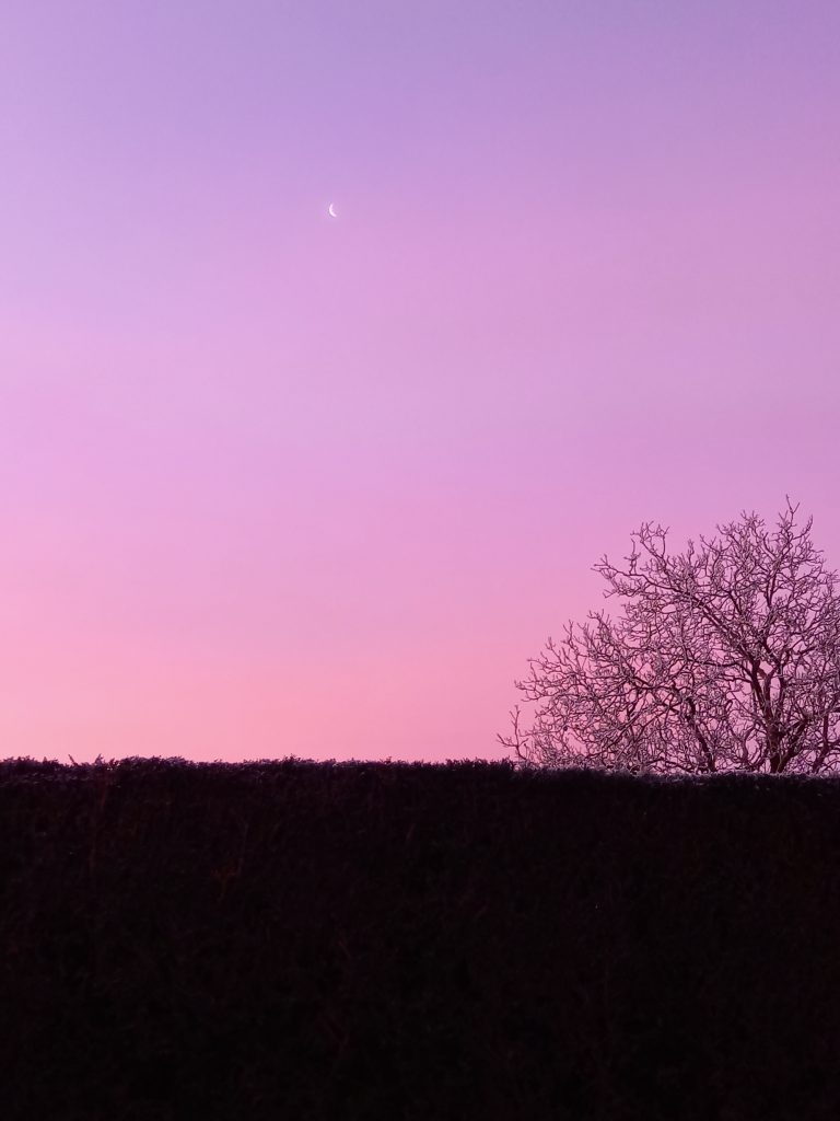
<instances>
[{"instance_id":1,"label":"purple-to-pink twilight sky around the crescent moon","mask_svg":"<svg viewBox=\"0 0 840 1121\"><path fill-rule=\"evenodd\" d=\"M834 0L4 0L0 160L3 757L498 760L643 521L840 568Z\"/></svg>"}]
</instances>

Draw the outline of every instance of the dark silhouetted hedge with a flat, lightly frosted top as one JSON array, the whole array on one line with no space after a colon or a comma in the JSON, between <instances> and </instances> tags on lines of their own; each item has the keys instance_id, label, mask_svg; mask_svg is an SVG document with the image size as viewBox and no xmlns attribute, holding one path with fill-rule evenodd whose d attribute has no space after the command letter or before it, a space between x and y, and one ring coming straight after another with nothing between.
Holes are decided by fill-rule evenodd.
<instances>
[{"instance_id":1,"label":"dark silhouetted hedge with a flat, lightly frosted top","mask_svg":"<svg viewBox=\"0 0 840 1121\"><path fill-rule=\"evenodd\" d=\"M0 763L0 1115L840 1118L840 779Z\"/></svg>"}]
</instances>

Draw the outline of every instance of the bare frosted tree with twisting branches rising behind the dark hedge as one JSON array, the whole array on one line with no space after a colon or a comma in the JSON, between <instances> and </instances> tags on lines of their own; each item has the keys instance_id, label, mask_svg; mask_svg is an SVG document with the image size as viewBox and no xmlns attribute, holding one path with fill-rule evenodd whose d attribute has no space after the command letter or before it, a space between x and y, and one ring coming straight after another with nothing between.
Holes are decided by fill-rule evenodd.
<instances>
[{"instance_id":1,"label":"bare frosted tree with twisting branches rising behind the dark hedge","mask_svg":"<svg viewBox=\"0 0 840 1121\"><path fill-rule=\"evenodd\" d=\"M722 539L669 557L668 529L644 522L616 568L594 566L624 618L589 612L580 634L551 638L531 677L532 728L500 735L525 767L638 772L816 773L840 760L840 600L799 532L787 499L769 536L755 513L718 526Z\"/></svg>"}]
</instances>

